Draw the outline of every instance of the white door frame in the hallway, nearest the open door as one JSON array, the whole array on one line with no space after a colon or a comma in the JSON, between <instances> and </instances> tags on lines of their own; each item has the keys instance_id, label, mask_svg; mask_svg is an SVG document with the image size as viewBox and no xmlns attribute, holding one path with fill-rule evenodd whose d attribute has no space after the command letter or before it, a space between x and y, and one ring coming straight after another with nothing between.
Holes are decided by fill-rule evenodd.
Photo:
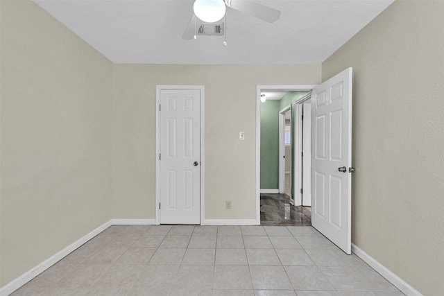
<instances>
[{"instance_id":1,"label":"white door frame in the hallway, nearest the open door","mask_svg":"<svg viewBox=\"0 0 444 296\"><path fill-rule=\"evenodd\" d=\"M311 98L311 92L302 96L298 101L295 102L295 134L294 134L294 170L298 170L298 173L294 174L294 205L300 206L302 205L302 193L300 193L300 189L302 189L302 104L306 103L307 100ZM310 123L311 125L311 123Z\"/></svg>"}]
</instances>

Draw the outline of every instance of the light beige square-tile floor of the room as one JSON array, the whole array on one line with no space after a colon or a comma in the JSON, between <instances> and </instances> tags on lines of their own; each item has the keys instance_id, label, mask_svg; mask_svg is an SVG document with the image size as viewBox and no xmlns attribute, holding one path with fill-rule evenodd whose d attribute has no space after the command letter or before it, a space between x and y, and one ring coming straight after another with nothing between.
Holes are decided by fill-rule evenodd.
<instances>
[{"instance_id":1,"label":"light beige square-tile floor of the room","mask_svg":"<svg viewBox=\"0 0 444 296\"><path fill-rule=\"evenodd\" d=\"M112 226L12 295L398 296L312 227Z\"/></svg>"}]
</instances>

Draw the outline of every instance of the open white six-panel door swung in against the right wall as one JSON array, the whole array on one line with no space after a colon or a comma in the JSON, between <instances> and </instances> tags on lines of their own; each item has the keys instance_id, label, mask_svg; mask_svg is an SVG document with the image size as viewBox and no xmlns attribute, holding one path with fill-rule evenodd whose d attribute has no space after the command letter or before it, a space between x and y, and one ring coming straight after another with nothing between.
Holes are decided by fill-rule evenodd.
<instances>
[{"instance_id":1,"label":"open white six-panel door swung in against the right wall","mask_svg":"<svg viewBox=\"0 0 444 296\"><path fill-rule=\"evenodd\" d=\"M311 224L351 254L352 68L311 94Z\"/></svg>"}]
</instances>

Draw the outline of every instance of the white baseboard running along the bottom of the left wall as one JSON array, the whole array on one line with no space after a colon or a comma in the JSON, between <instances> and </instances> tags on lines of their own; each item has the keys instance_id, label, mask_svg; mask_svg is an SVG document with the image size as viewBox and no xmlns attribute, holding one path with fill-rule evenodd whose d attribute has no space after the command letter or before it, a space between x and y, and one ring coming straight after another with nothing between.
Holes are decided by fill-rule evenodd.
<instances>
[{"instance_id":1,"label":"white baseboard running along the bottom of the left wall","mask_svg":"<svg viewBox=\"0 0 444 296\"><path fill-rule=\"evenodd\" d=\"M0 295L6 296L14 292L18 288L26 284L28 281L31 281L31 279L37 277L37 275L40 275L46 269L56 264L58 261L67 256L69 253L76 250L78 247L80 247L80 245L83 245L97 234L103 232L103 230L107 229L111 225L112 225L112 220L109 220L108 222L94 229L92 232L89 232L89 234L83 236L82 238L79 238L74 243L71 243L71 245L65 247L65 249L61 250L57 254L51 256L49 259L46 259L39 265L35 266L34 268L31 268L31 270L28 270L23 275L17 277L16 279L13 279L8 284L0 288Z\"/></svg>"}]
</instances>

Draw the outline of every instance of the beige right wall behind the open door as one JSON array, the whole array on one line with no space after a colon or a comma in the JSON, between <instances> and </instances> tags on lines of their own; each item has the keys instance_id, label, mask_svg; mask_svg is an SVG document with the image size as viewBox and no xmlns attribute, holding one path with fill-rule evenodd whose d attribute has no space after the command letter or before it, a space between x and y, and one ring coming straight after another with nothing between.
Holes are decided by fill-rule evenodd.
<instances>
[{"instance_id":1,"label":"beige right wall behind the open door","mask_svg":"<svg viewBox=\"0 0 444 296\"><path fill-rule=\"evenodd\" d=\"M323 63L353 67L352 241L444 292L444 1L395 1Z\"/></svg>"}]
</instances>

